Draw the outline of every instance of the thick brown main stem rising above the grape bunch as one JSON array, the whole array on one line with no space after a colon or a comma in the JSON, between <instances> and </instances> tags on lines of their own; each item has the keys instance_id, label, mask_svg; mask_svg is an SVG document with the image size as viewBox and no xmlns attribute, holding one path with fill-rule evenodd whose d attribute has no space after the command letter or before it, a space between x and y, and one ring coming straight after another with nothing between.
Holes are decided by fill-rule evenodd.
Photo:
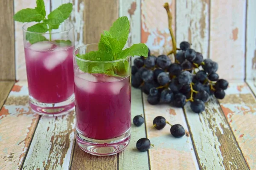
<instances>
[{"instance_id":1,"label":"thick brown main stem rising above the grape bunch","mask_svg":"<svg viewBox=\"0 0 256 170\"><path fill-rule=\"evenodd\" d=\"M166 9L166 12L168 15L169 31L170 31L170 34L172 37L172 51L170 51L167 55L174 54L174 56L175 56L177 48L176 48L175 36L174 36L173 30L172 30L172 12L170 11L169 3L165 3L163 5L163 7ZM176 62L176 58L175 58L175 62Z\"/></svg>"}]
</instances>

